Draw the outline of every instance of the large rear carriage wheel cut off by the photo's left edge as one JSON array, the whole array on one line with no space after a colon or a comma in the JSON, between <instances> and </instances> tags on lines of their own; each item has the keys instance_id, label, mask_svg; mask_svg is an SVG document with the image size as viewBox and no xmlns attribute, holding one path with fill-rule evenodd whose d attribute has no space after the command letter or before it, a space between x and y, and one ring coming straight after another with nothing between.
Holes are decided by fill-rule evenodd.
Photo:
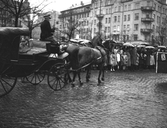
<instances>
[{"instance_id":1,"label":"large rear carriage wheel cut off by the photo's left edge","mask_svg":"<svg viewBox=\"0 0 167 128\"><path fill-rule=\"evenodd\" d=\"M7 95L13 90L17 82L17 77L7 75L0 76L0 97Z\"/></svg>"}]
</instances>

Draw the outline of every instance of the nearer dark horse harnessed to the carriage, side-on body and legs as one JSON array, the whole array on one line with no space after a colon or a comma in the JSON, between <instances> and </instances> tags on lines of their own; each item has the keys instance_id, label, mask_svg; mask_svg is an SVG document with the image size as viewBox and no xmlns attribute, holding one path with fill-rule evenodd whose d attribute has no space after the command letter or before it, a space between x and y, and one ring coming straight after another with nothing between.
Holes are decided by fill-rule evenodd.
<instances>
[{"instance_id":1,"label":"nearer dark horse harnessed to the carriage, side-on body and legs","mask_svg":"<svg viewBox=\"0 0 167 128\"><path fill-rule=\"evenodd\" d=\"M69 67L71 67L72 71L74 71L74 76L72 80L73 86L74 86L74 81L77 74L78 74L80 85L83 84L80 77L81 69L90 67L92 64L99 65L98 83L101 83L102 80L104 80L104 75L102 75L102 78L101 78L104 61L103 61L102 53L98 49L87 47L87 46L79 46L73 43L68 43L67 45L63 46L62 49L65 52L69 53L69 62L70 62ZM87 81L89 79L88 73L89 73L89 70L87 70L87 73L86 73Z\"/></svg>"}]
</instances>

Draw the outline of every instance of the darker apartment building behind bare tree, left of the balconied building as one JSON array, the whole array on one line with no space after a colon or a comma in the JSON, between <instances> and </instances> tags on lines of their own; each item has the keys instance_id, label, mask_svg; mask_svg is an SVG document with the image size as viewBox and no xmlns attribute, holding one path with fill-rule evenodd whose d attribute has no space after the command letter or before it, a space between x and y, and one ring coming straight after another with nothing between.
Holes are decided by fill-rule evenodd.
<instances>
[{"instance_id":1,"label":"darker apartment building behind bare tree, left of the balconied building","mask_svg":"<svg viewBox=\"0 0 167 128\"><path fill-rule=\"evenodd\" d=\"M61 11L60 30L62 37L67 37L68 28L71 28L71 36L75 38L91 39L93 21L90 17L91 3L80 5L73 5L70 9Z\"/></svg>"}]
</instances>

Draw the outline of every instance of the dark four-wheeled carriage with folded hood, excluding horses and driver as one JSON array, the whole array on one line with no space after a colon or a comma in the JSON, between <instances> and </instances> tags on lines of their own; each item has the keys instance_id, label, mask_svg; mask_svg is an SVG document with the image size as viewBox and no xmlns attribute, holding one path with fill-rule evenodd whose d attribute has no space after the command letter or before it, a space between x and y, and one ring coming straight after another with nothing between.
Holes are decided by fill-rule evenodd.
<instances>
[{"instance_id":1,"label":"dark four-wheeled carriage with folded hood, excluding horses and driver","mask_svg":"<svg viewBox=\"0 0 167 128\"><path fill-rule=\"evenodd\" d=\"M51 53L57 55L50 47L19 52L21 38L28 35L29 30L24 28L0 28L0 97L12 91L18 77L37 85L47 75L48 85L55 91L67 82L67 56L49 57Z\"/></svg>"}]
</instances>

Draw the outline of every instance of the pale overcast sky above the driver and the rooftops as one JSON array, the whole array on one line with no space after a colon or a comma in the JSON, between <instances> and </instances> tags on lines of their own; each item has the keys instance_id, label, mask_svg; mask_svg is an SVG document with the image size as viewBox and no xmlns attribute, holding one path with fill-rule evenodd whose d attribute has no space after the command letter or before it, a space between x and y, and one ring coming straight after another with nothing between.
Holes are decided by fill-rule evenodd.
<instances>
[{"instance_id":1,"label":"pale overcast sky above the driver and the rooftops","mask_svg":"<svg viewBox=\"0 0 167 128\"><path fill-rule=\"evenodd\" d=\"M39 5L40 1L43 1L43 0L29 0L30 4L32 4L32 5ZM80 4L81 1L83 1L83 3L90 3L91 2L91 0L48 0L48 3L50 3L50 4L45 8L45 11L66 10L66 9L69 9L72 5Z\"/></svg>"}]
</instances>

